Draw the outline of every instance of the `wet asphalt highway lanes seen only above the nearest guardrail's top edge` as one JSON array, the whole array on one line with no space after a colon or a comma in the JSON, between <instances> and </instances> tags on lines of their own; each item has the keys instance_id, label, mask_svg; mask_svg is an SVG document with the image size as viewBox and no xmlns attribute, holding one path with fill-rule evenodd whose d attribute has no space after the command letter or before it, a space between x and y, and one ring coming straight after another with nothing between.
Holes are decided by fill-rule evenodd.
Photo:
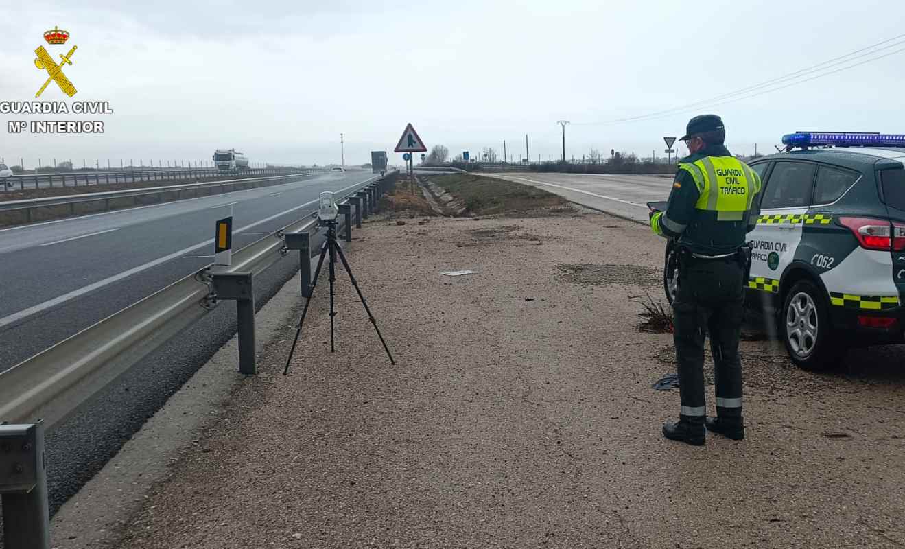
<instances>
[{"instance_id":1,"label":"wet asphalt highway lanes seen only above the nearest guardrail's top edge","mask_svg":"<svg viewBox=\"0 0 905 549\"><path fill-rule=\"evenodd\" d=\"M233 211L233 250L314 209L367 172L0 230L0 371L212 261Z\"/></svg>"}]
</instances>

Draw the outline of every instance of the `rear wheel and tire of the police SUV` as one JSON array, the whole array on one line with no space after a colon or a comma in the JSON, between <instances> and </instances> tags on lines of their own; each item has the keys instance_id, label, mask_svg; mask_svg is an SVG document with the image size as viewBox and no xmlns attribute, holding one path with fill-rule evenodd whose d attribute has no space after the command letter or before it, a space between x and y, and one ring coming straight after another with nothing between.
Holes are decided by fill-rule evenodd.
<instances>
[{"instance_id":1,"label":"rear wheel and tire of the police SUV","mask_svg":"<svg viewBox=\"0 0 905 549\"><path fill-rule=\"evenodd\" d=\"M786 293L777 324L789 358L799 368L822 372L837 366L848 350L830 323L830 306L811 280Z\"/></svg>"}]
</instances>

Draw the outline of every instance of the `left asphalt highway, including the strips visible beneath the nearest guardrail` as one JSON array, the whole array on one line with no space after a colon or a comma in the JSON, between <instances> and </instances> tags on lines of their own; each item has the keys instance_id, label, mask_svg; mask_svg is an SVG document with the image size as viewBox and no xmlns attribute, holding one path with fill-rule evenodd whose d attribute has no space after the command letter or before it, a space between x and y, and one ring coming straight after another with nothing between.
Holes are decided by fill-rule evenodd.
<instances>
[{"instance_id":1,"label":"left asphalt highway, including the strips visible beneath the nearest guardrail","mask_svg":"<svg viewBox=\"0 0 905 549\"><path fill-rule=\"evenodd\" d=\"M315 209L368 172L99 213L0 231L0 372L212 261L214 221L233 210L233 250ZM262 306L299 268L289 254L255 278ZM235 333L219 307L167 342L47 436L55 511Z\"/></svg>"}]
</instances>

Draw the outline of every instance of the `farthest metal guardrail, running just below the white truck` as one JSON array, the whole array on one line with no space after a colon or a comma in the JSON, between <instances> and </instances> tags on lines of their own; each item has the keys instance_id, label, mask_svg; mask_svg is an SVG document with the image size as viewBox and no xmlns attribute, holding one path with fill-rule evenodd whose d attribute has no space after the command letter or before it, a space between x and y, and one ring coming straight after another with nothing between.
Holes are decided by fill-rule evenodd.
<instances>
[{"instance_id":1,"label":"farthest metal guardrail, running just below the white truck","mask_svg":"<svg viewBox=\"0 0 905 549\"><path fill-rule=\"evenodd\" d=\"M324 168L325 170L327 168ZM302 171L312 171L302 170ZM169 179L198 179L221 177L224 175L281 175L287 173L299 173L296 168L269 167L269 168L248 168L244 170L220 170L217 168L173 168L173 169L138 169L131 170L129 168L120 170L107 171L71 171L58 172L53 174L22 174L12 175L5 179L0 179L0 193L15 189L18 187L20 191L28 188L39 188L41 186L79 186L82 185L109 185L116 183L140 183L144 181L167 181ZM112 181L111 181L112 179ZM3 185L5 184L5 185ZM44 184L44 185L42 185ZM55 185L54 185L55 184ZM69 184L69 185L67 185Z\"/></svg>"}]
</instances>

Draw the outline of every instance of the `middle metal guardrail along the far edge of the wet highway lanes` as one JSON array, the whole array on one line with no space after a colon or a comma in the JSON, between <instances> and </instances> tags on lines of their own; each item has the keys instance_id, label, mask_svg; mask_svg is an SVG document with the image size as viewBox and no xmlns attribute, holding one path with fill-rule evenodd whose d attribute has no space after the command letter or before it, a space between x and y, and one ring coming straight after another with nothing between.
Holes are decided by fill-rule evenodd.
<instances>
[{"instance_id":1,"label":"middle metal guardrail along the far edge of the wet highway lanes","mask_svg":"<svg viewBox=\"0 0 905 549\"><path fill-rule=\"evenodd\" d=\"M109 191L106 193L85 193L85 194L67 194L64 196L49 196L44 198L29 198L26 200L8 200L0 201L0 213L4 212L24 212L24 222L33 222L35 213L39 208L49 208L53 206L69 206L69 215L75 215L76 204L88 204L95 202L103 202L104 210L110 210L111 201L124 198L131 198L132 204L138 204L139 197L157 196L158 202L163 202L164 194L176 194L176 199L181 198L184 191L194 191L195 197L202 189L218 192L208 192L207 194L231 193L243 188L252 188L262 186L262 184L282 181L289 181L295 177L302 175L314 175L323 173L319 170L305 170L298 173L288 175L270 175L264 177L248 177L243 179L230 179L227 181L214 181L207 183L189 183L184 185L165 185L159 187L144 187L140 189L126 189L122 191ZM123 207L123 206L118 206Z\"/></svg>"}]
</instances>

